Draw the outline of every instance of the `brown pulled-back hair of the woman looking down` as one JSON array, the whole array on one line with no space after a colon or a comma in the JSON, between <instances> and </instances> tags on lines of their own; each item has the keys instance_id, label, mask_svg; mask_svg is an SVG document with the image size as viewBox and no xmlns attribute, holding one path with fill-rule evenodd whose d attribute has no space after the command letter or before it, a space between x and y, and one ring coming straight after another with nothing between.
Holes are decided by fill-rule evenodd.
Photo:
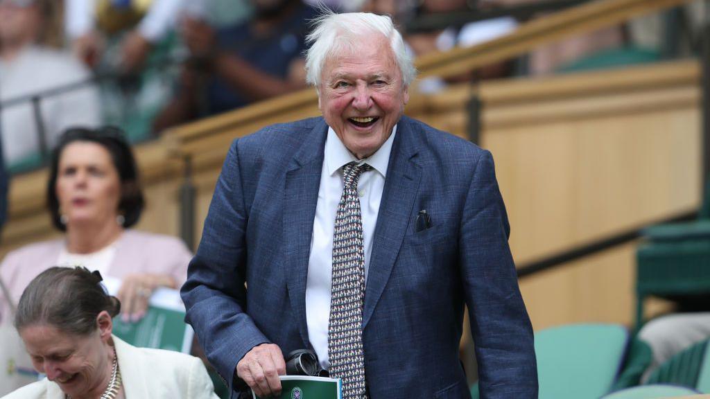
<instances>
[{"instance_id":1,"label":"brown pulled-back hair of the woman looking down","mask_svg":"<svg viewBox=\"0 0 710 399\"><path fill-rule=\"evenodd\" d=\"M20 297L15 328L46 324L67 334L85 336L97 329L97 317L106 310L111 317L121 302L109 295L99 272L87 268L48 268L35 277Z\"/></svg>"}]
</instances>

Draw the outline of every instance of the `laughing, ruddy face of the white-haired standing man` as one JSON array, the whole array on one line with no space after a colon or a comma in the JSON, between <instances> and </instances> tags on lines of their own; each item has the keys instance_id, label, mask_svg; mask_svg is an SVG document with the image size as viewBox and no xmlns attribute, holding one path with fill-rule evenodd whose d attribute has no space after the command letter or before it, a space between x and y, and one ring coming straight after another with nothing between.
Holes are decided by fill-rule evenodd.
<instances>
[{"instance_id":1,"label":"laughing, ruddy face of the white-haired standing man","mask_svg":"<svg viewBox=\"0 0 710 399\"><path fill-rule=\"evenodd\" d=\"M409 101L388 40L367 35L353 51L330 56L318 87L318 107L340 141L362 159L387 141Z\"/></svg>"}]
</instances>

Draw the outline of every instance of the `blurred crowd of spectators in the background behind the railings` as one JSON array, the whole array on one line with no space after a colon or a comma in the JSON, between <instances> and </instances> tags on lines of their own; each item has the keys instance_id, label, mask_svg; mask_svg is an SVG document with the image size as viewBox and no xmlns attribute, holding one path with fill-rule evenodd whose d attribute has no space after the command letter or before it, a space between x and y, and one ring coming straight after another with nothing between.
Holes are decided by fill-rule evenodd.
<instances>
[{"instance_id":1,"label":"blurred crowd of spectators in the background behind the railings","mask_svg":"<svg viewBox=\"0 0 710 399\"><path fill-rule=\"evenodd\" d=\"M320 7L391 15L410 51L422 55L476 45L524 21L501 16L408 31L417 18L533 2L540 1L0 0L4 163L12 171L40 165L67 126L120 126L136 143L302 89L304 38ZM657 31L657 21L606 28L453 81L575 70L599 63L599 54L602 63L619 58L619 50L625 62L655 60ZM640 50L629 51L630 43ZM429 78L417 89L451 81Z\"/></svg>"}]
</instances>

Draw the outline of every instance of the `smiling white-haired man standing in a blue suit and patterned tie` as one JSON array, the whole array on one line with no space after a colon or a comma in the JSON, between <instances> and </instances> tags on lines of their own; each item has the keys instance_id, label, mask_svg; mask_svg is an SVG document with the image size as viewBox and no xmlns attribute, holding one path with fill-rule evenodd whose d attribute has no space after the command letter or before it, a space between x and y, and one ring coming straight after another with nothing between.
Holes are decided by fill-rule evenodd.
<instances>
[{"instance_id":1,"label":"smiling white-haired man standing in a blue suit and patterned tie","mask_svg":"<svg viewBox=\"0 0 710 399\"><path fill-rule=\"evenodd\" d=\"M390 18L327 14L307 79L322 118L235 140L182 297L231 387L280 393L312 349L343 398L537 398L532 329L491 154L403 116L415 69Z\"/></svg>"}]
</instances>

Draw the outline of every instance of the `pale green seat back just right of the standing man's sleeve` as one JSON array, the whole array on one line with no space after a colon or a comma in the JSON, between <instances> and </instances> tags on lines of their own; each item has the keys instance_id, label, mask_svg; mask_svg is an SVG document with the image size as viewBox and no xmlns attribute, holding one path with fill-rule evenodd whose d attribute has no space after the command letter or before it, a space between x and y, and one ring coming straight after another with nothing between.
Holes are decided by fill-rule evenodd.
<instances>
[{"instance_id":1,"label":"pale green seat back just right of the standing man's sleeve","mask_svg":"<svg viewBox=\"0 0 710 399\"><path fill-rule=\"evenodd\" d=\"M617 324L570 324L535 334L540 399L597 399L608 393L628 344ZM478 386L471 387L478 398Z\"/></svg>"}]
</instances>

